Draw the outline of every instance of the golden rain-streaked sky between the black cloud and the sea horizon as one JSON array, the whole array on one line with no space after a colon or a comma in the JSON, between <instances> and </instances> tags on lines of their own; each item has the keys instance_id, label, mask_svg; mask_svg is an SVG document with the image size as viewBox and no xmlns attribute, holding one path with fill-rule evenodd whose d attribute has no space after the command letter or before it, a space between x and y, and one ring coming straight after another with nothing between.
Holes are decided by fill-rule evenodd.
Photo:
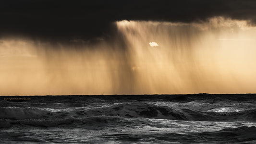
<instances>
[{"instance_id":1,"label":"golden rain-streaked sky between the black cloud and the sea horizon","mask_svg":"<svg viewBox=\"0 0 256 144\"><path fill-rule=\"evenodd\" d=\"M246 21L115 24L117 38L96 44L2 38L0 95L256 93L256 28Z\"/></svg>"}]
</instances>

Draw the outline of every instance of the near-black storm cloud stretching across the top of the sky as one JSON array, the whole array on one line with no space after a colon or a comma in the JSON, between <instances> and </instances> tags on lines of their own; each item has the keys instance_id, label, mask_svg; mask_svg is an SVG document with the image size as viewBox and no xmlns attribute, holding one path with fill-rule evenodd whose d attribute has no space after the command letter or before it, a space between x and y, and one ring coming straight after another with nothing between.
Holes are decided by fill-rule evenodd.
<instances>
[{"instance_id":1,"label":"near-black storm cloud stretching across the top of the sky","mask_svg":"<svg viewBox=\"0 0 256 144\"><path fill-rule=\"evenodd\" d=\"M108 36L111 22L193 22L212 16L256 23L256 0L1 0L0 36L49 40Z\"/></svg>"}]
</instances>

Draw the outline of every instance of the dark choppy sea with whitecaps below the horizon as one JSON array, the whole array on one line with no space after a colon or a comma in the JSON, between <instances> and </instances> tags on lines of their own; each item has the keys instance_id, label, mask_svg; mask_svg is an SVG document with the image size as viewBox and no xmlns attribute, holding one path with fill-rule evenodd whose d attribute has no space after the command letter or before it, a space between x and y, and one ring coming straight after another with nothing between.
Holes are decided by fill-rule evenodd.
<instances>
[{"instance_id":1,"label":"dark choppy sea with whitecaps below the horizon","mask_svg":"<svg viewBox=\"0 0 256 144\"><path fill-rule=\"evenodd\" d=\"M0 96L0 144L256 144L256 94Z\"/></svg>"}]
</instances>

